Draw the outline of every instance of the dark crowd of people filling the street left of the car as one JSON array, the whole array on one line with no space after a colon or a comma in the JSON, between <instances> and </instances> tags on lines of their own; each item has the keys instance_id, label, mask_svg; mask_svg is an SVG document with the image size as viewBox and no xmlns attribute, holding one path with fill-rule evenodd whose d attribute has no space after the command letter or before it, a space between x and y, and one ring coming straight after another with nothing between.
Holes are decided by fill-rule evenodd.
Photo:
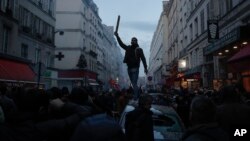
<instances>
[{"instance_id":1,"label":"dark crowd of people filling the street left of the car","mask_svg":"<svg viewBox=\"0 0 250 141\"><path fill-rule=\"evenodd\" d=\"M111 93L88 88L49 90L1 84L1 141L123 141Z\"/></svg>"}]
</instances>

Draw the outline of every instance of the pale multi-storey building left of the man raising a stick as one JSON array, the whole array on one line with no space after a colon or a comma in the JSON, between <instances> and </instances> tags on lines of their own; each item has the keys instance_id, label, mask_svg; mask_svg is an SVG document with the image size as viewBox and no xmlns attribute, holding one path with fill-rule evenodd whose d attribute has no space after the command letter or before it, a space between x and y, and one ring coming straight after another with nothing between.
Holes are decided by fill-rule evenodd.
<instances>
[{"instance_id":1,"label":"pale multi-storey building left of the man raising a stick","mask_svg":"<svg viewBox=\"0 0 250 141\"><path fill-rule=\"evenodd\" d=\"M109 80L116 80L120 73L120 50L113 27L102 24L93 0L57 1L56 20L56 30L64 35L55 34L55 52L61 56L55 59L55 67L75 74L60 75L59 86L111 87Z\"/></svg>"}]
</instances>

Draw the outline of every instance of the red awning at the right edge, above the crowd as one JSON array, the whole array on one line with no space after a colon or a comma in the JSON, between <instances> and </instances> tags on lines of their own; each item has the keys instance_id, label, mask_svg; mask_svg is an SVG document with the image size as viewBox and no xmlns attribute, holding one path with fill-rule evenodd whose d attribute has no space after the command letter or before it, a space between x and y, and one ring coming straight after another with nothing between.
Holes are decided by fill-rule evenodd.
<instances>
[{"instance_id":1,"label":"red awning at the right edge, above the crowd","mask_svg":"<svg viewBox=\"0 0 250 141\"><path fill-rule=\"evenodd\" d=\"M242 48L239 52L237 52L233 57L231 57L228 62L233 62L241 59L250 58L250 45Z\"/></svg>"}]
</instances>

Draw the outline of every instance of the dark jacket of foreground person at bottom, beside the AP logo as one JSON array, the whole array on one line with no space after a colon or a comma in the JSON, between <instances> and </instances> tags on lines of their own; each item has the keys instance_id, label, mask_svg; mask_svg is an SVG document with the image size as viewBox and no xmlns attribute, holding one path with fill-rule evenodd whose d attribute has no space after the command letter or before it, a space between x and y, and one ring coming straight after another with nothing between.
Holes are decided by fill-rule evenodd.
<instances>
[{"instance_id":1,"label":"dark jacket of foreground person at bottom, beside the AP logo","mask_svg":"<svg viewBox=\"0 0 250 141\"><path fill-rule=\"evenodd\" d=\"M200 124L189 128L183 141L229 141L228 134L215 123Z\"/></svg>"}]
</instances>

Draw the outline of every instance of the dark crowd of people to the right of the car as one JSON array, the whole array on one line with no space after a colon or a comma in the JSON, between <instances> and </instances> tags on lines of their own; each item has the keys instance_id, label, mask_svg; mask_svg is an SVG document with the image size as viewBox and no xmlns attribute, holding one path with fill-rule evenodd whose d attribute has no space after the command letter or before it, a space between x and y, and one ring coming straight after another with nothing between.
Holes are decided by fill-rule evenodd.
<instances>
[{"instance_id":1,"label":"dark crowd of people to the right of the car","mask_svg":"<svg viewBox=\"0 0 250 141\"><path fill-rule=\"evenodd\" d=\"M244 140L235 136L236 129L250 129L250 94L242 85L225 85L219 90L172 92L176 95L172 106L186 127L182 140Z\"/></svg>"}]
</instances>

